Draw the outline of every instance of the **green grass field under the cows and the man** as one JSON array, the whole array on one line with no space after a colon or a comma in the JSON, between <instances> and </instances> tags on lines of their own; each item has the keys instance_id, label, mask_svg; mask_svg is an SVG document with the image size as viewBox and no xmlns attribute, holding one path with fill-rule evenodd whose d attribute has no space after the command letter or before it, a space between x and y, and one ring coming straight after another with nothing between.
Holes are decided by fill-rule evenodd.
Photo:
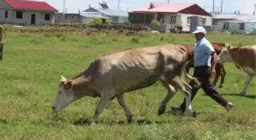
<instances>
[{"instance_id":1,"label":"green grass field under the cows and the man","mask_svg":"<svg viewBox=\"0 0 256 140\"><path fill-rule=\"evenodd\" d=\"M92 117L99 98L82 98L53 116L51 106L56 96L60 74L66 77L81 72L98 55L120 48L192 43L190 34L149 34L142 36L82 36L61 33L8 33L4 60L0 61L0 139L117 139L117 140L240 140L256 136L255 81L248 95L237 96L244 86L246 75L234 64L226 64L226 82L218 89L235 104L229 113L204 95L200 89L193 107L197 118L174 116L168 112L158 117L158 104L166 91L159 83L147 89L126 93L126 103L134 120L147 124L126 124L123 108L117 100L110 101L94 126L83 125ZM213 34L211 42L232 45L256 43L255 36ZM193 70L190 71L192 74ZM235 86L235 80L242 76ZM178 92L168 104L178 105L183 95ZM124 121L124 124L119 124Z\"/></svg>"}]
</instances>

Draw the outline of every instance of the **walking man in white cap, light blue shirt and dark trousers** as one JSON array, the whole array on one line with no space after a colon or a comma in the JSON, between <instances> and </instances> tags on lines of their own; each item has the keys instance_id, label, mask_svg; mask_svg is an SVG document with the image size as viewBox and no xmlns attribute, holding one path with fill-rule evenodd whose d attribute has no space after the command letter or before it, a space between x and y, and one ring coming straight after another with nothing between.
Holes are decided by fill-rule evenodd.
<instances>
[{"instance_id":1,"label":"walking man in white cap, light blue shirt and dark trousers","mask_svg":"<svg viewBox=\"0 0 256 140\"><path fill-rule=\"evenodd\" d=\"M213 46L205 38L206 30L203 26L197 26L197 29L193 32L197 42L194 45L194 76L201 82L201 88L206 95L213 98L214 101L231 110L234 106L231 102L227 101L219 92L216 91L211 78L215 77L215 67L217 63L217 54L213 49ZM193 83L190 81L191 90L191 102L194 96L197 94L200 88L194 88ZM180 107L171 107L171 110L176 114L184 113L186 107L185 98Z\"/></svg>"}]
</instances>

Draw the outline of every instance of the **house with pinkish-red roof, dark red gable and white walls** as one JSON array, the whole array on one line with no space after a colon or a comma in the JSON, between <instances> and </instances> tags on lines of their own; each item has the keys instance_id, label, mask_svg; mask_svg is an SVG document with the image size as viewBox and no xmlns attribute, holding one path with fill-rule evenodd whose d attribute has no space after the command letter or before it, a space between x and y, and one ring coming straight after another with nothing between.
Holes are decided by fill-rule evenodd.
<instances>
[{"instance_id":1,"label":"house with pinkish-red roof, dark red gable and white walls","mask_svg":"<svg viewBox=\"0 0 256 140\"><path fill-rule=\"evenodd\" d=\"M150 24L152 20L158 20L161 24L181 27L181 31L189 32L190 17L199 17L201 26L212 26L212 15L200 8L197 4L190 3L150 3L139 9L129 12L131 23Z\"/></svg>"}]
</instances>

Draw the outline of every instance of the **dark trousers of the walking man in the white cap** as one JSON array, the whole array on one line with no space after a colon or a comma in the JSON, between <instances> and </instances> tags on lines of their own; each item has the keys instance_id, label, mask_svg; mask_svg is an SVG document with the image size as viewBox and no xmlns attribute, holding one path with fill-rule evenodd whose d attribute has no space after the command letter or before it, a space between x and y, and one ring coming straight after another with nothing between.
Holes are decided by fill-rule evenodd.
<instances>
[{"instance_id":1,"label":"dark trousers of the walking man in the white cap","mask_svg":"<svg viewBox=\"0 0 256 140\"><path fill-rule=\"evenodd\" d=\"M226 99L223 98L222 95L220 95L219 92L216 91L216 88L210 79L210 67L208 66L195 67L193 76L197 77L197 79L200 80L202 84L201 88L203 89L203 92L206 93L206 95L210 96L210 98L213 98L213 100L221 104L223 107L226 107L226 104L228 104L228 101L226 101ZM194 88L193 87L194 83L192 81L190 81L189 85L192 86L192 90L191 90L191 102L192 102L200 88ZM185 98L180 108L183 111L186 109Z\"/></svg>"}]
</instances>

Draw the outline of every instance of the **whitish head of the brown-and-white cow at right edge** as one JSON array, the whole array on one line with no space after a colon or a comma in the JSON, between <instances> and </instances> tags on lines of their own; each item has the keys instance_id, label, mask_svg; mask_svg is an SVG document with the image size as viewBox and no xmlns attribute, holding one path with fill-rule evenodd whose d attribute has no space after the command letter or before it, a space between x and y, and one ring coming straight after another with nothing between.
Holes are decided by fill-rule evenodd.
<instances>
[{"instance_id":1,"label":"whitish head of the brown-and-white cow at right edge","mask_svg":"<svg viewBox=\"0 0 256 140\"><path fill-rule=\"evenodd\" d=\"M218 63L223 64L226 62L233 61L232 56L230 54L230 49L232 46L230 44L226 44L222 51L218 55Z\"/></svg>"}]
</instances>

